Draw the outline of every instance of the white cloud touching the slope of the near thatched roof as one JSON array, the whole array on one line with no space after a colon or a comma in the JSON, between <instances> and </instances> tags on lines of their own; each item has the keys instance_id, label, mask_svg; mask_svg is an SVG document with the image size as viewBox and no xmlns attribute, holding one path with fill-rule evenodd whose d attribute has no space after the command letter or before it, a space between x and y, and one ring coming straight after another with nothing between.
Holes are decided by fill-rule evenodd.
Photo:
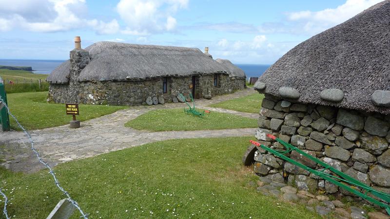
<instances>
[{"instance_id":1,"label":"white cloud touching the slope of the near thatched roof","mask_svg":"<svg viewBox=\"0 0 390 219\"><path fill-rule=\"evenodd\" d=\"M347 0L336 8L327 8L321 11L299 11L287 14L292 23L296 23L298 29L309 34L316 34L332 26L340 24L349 18L364 11L370 6L382 0Z\"/></svg>"}]
</instances>

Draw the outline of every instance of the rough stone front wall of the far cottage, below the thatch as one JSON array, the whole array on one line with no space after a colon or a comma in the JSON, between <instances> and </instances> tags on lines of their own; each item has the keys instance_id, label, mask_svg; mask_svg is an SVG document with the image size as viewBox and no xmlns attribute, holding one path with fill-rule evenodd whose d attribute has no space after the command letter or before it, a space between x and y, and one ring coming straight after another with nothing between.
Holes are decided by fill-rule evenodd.
<instances>
[{"instance_id":1,"label":"rough stone front wall of the far cottage, below the thatch","mask_svg":"<svg viewBox=\"0 0 390 219\"><path fill-rule=\"evenodd\" d=\"M228 75L220 74L220 83L214 87L214 75L199 76L201 96L212 96L231 93L243 89L245 79L230 79ZM163 94L162 78L144 81L98 81L77 82L70 80L69 85L50 84L48 101L55 103L77 102L83 104L102 105L142 105L146 98L164 97L165 102L172 102L178 93L191 92L192 77L169 77L168 93Z\"/></svg>"}]
</instances>

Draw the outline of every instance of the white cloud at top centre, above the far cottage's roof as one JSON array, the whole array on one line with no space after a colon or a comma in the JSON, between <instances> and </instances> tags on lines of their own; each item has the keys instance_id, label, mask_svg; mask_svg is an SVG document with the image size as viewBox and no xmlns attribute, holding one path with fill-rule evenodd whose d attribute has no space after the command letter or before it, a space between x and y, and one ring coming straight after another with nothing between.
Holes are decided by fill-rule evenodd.
<instances>
[{"instance_id":1,"label":"white cloud at top centre, above the far cottage's roof","mask_svg":"<svg viewBox=\"0 0 390 219\"><path fill-rule=\"evenodd\" d=\"M120 0L117 12L126 23L123 34L145 36L173 31L178 9L186 8L188 0Z\"/></svg>"}]
</instances>

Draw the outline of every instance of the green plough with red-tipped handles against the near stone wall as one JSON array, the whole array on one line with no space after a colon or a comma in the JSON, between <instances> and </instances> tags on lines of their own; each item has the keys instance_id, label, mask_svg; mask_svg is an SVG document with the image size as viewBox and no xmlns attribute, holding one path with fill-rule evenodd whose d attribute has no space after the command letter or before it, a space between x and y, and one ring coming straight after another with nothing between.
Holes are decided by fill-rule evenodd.
<instances>
[{"instance_id":1,"label":"green plough with red-tipped handles against the near stone wall","mask_svg":"<svg viewBox=\"0 0 390 219\"><path fill-rule=\"evenodd\" d=\"M285 161L288 161L288 162L290 162L298 167L301 167L302 169L307 170L307 171L321 177L322 179L324 179L330 183L333 183L335 185L340 186L341 188L355 194L356 196L359 196L367 201L370 201L371 203L374 203L382 208L385 208L387 213L390 215L390 206L388 204L384 203L384 202L390 203L390 194L383 193L383 192L380 192L380 191L377 191L377 190L371 188L370 186L368 186L368 185L352 178L351 176L335 169L331 165L324 163L321 160L312 157L311 155L300 150L299 148L296 148L296 147L290 145L289 143L284 142L284 141L280 140L279 138L276 138L275 136L273 136L271 134L267 134L267 137L269 137L269 138L277 141L281 145L283 145L286 148L286 150L282 151L282 152L276 151L270 147L261 145L258 142L255 142L255 141L250 141L250 142L252 144L254 144L255 146L258 146L258 147L268 151L269 153L272 153L273 155L275 155L275 156L277 156ZM305 164L301 164L301 163L287 157L286 154L290 153L293 150L300 153L304 157L314 161L315 163L321 165L324 168L320 169L320 170L315 170L315 169L312 169L312 168L306 166ZM330 173L326 173L325 170L328 170ZM371 196L369 196L368 194L371 194L375 198L383 200L384 202L378 201L378 200L372 198Z\"/></svg>"}]
</instances>

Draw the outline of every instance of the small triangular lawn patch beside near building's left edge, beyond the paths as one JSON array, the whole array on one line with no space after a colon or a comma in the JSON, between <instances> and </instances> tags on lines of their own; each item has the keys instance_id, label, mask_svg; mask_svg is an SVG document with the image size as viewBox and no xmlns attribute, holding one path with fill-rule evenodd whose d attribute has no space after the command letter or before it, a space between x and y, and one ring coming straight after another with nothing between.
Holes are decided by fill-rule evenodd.
<instances>
[{"instance_id":1,"label":"small triangular lawn patch beside near building's left edge, beyond the paths","mask_svg":"<svg viewBox=\"0 0 390 219\"><path fill-rule=\"evenodd\" d=\"M234 98L232 100L212 104L210 105L210 107L217 107L240 112L258 113L261 108L261 102L263 98L264 94L254 93L248 96Z\"/></svg>"}]
</instances>

